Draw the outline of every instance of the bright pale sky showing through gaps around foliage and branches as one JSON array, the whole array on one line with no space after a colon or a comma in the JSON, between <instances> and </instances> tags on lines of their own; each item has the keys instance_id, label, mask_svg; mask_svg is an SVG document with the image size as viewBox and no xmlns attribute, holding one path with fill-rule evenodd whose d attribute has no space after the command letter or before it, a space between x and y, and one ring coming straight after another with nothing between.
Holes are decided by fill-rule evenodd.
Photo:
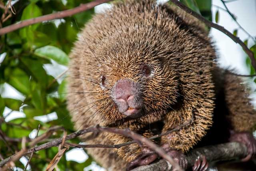
<instances>
[{"instance_id":1,"label":"bright pale sky showing through gaps around foliage and branches","mask_svg":"<svg viewBox=\"0 0 256 171\"><path fill-rule=\"evenodd\" d=\"M166 2L166 0L160 0L161 2ZM234 2L229 2L226 4L229 10L235 14L237 17L238 23L252 36L256 37L256 0L236 0ZM110 8L110 4L102 4L95 7L95 12L103 12L105 9ZM220 0L212 0L212 15L215 17L215 13L219 11L219 22L218 24L224 26L230 32L233 32L234 29L238 28L238 37L244 41L248 39L248 35L244 33L234 20L229 16L229 14L222 10L224 8L222 2ZM214 19L213 19L214 20ZM245 64L246 54L243 52L240 45L236 44L231 40L228 36L223 34L222 32L212 28L210 30L210 36L214 41L214 45L216 46L216 50L218 53L219 61L218 63L222 68L232 68L238 74L249 74L248 69ZM252 45L252 40L249 40L249 46ZM2 54L1 58L4 56ZM46 71L53 76L60 75L67 68L56 64L46 64L44 66ZM58 70L54 70L54 68L58 68ZM1 94L2 97L12 97L16 99L24 100L24 96L21 95L18 91L12 88L10 85L4 86L4 92ZM6 108L4 111L4 115L10 112L10 109ZM10 121L17 117L25 117L22 111L14 111L11 115L6 118L6 121ZM49 121L49 119L56 119L56 113L49 113L47 116L42 118L36 118L41 121ZM30 137L33 138L36 131L32 131ZM67 160L75 160L78 162L84 162L88 158L88 155L82 149L72 149L66 153ZM22 158L21 161L26 164L26 158ZM28 167L29 169L29 167ZM85 168L84 171L104 171L101 167L96 165L96 163L92 163L89 167Z\"/></svg>"}]
</instances>

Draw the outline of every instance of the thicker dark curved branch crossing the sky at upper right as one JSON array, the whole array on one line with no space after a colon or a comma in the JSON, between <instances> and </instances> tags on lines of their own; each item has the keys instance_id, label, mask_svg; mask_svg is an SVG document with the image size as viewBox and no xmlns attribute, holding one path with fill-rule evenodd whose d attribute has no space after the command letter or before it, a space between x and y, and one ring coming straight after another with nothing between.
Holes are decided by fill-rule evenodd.
<instances>
[{"instance_id":1,"label":"thicker dark curved branch crossing the sky at upper right","mask_svg":"<svg viewBox=\"0 0 256 171\"><path fill-rule=\"evenodd\" d=\"M186 11L188 14L190 14L190 15L194 16L195 18L197 18L198 20L204 22L204 24L206 24L207 26L216 28L217 30L220 30L221 32L226 34L228 37L230 37L234 42L240 44L240 46L242 46L244 52L246 52L246 54L248 54L248 56L251 60L251 64L252 64L253 68L256 70L256 60L254 59L254 53L246 46L246 44L244 44L244 42L242 42L242 40L240 40L240 38L234 36L232 33L230 33L228 30L226 30L223 26L220 26L218 24L215 24L215 23L210 22L209 20L205 19L203 16L194 12L190 8L186 7L184 4L180 3L178 0L170 0L170 1L173 2L176 6L180 7L182 10Z\"/></svg>"}]
</instances>

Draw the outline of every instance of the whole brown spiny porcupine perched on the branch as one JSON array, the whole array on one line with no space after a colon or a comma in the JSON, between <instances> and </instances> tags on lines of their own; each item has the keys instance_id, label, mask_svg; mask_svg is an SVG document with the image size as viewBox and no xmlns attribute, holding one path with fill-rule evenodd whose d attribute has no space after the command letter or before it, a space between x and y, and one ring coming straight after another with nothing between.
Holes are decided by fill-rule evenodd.
<instances>
[{"instance_id":1,"label":"whole brown spiny porcupine perched on the branch","mask_svg":"<svg viewBox=\"0 0 256 171\"><path fill-rule=\"evenodd\" d=\"M151 137L194 115L192 124L152 140L182 167L187 165L184 153L206 135L213 121L221 125L212 129L236 131L231 139L247 145L245 160L255 153L252 134L242 132L256 121L245 86L218 68L205 26L178 7L154 0L116 3L85 26L70 57L68 91L87 92L67 96L76 129L115 123ZM230 136L223 130L221 135ZM131 139L101 132L86 142L127 141ZM87 151L110 171L130 170L158 158L138 144Z\"/></svg>"}]
</instances>

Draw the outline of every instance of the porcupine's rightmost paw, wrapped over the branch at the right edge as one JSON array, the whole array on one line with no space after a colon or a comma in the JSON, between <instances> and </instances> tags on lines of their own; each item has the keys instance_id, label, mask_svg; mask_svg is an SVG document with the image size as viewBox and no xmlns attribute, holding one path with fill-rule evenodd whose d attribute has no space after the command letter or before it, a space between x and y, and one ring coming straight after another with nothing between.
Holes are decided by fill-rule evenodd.
<instances>
[{"instance_id":1,"label":"porcupine's rightmost paw, wrapped over the branch at the right edge","mask_svg":"<svg viewBox=\"0 0 256 171\"><path fill-rule=\"evenodd\" d=\"M235 133L231 131L230 139L231 142L243 143L247 147L247 156L241 161L249 161L256 155L256 139L253 137L252 133L240 132Z\"/></svg>"}]
</instances>

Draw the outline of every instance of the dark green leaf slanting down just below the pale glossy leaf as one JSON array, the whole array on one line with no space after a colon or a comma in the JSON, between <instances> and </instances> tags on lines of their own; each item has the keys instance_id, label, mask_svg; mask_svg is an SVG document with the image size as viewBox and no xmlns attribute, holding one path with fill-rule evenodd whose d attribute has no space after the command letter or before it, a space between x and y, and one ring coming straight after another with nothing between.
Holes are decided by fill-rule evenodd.
<instances>
[{"instance_id":1,"label":"dark green leaf slanting down just below the pale glossy leaf","mask_svg":"<svg viewBox=\"0 0 256 171\"><path fill-rule=\"evenodd\" d=\"M20 58L22 63L30 70L31 75L38 80L42 87L46 87L48 83L47 74L42 64L38 60L31 60L28 57Z\"/></svg>"}]
</instances>

